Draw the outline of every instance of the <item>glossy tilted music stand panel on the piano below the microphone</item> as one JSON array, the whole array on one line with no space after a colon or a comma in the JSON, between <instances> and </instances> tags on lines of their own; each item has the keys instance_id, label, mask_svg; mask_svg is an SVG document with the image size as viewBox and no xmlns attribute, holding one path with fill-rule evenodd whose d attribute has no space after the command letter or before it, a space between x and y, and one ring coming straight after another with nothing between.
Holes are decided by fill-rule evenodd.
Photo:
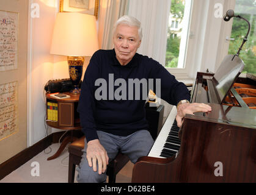
<instances>
[{"instance_id":1,"label":"glossy tilted music stand panel on the piano below the microphone","mask_svg":"<svg viewBox=\"0 0 256 195\"><path fill-rule=\"evenodd\" d=\"M213 83L218 93L222 104L225 101L227 94L235 83L240 73L244 69L244 62L238 56L226 55L222 60L221 65L213 76Z\"/></svg>"}]
</instances>

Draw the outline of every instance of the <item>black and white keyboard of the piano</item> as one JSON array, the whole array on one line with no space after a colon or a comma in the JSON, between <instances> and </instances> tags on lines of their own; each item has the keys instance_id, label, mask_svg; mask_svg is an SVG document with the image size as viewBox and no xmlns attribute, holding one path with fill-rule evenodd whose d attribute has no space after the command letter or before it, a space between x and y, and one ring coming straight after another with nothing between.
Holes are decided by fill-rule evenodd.
<instances>
[{"instance_id":1,"label":"black and white keyboard of the piano","mask_svg":"<svg viewBox=\"0 0 256 195\"><path fill-rule=\"evenodd\" d=\"M180 149L180 138L178 138L178 130L176 122L177 109L172 107L161 132L156 138L152 149L148 153L148 157L167 158L176 155Z\"/></svg>"}]
</instances>

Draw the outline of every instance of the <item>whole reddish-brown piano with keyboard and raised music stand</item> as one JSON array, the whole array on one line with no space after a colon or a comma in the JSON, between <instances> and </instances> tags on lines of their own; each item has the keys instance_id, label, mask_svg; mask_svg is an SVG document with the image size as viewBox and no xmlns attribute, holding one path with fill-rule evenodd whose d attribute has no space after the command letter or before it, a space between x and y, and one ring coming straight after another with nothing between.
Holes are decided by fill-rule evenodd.
<instances>
[{"instance_id":1,"label":"whole reddish-brown piano with keyboard and raised music stand","mask_svg":"<svg viewBox=\"0 0 256 195\"><path fill-rule=\"evenodd\" d=\"M243 67L227 55L215 74L197 73L191 102L212 111L186 115L178 128L174 106L131 182L256 182L256 79Z\"/></svg>"}]
</instances>

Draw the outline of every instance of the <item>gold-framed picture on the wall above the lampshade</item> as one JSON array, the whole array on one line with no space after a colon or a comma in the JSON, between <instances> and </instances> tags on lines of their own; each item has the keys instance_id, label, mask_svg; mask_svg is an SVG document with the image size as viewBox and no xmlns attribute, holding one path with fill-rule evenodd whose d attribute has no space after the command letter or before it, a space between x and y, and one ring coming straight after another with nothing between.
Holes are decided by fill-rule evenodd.
<instances>
[{"instance_id":1,"label":"gold-framed picture on the wall above the lampshade","mask_svg":"<svg viewBox=\"0 0 256 195\"><path fill-rule=\"evenodd\" d=\"M80 12L95 15L98 19L99 0L60 0L59 12Z\"/></svg>"}]
</instances>

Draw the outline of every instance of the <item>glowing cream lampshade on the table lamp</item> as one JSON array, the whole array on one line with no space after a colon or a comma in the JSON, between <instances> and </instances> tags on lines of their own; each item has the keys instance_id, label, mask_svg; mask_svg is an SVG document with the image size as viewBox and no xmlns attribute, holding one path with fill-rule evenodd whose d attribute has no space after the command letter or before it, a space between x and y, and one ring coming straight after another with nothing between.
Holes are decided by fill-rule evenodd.
<instances>
[{"instance_id":1,"label":"glowing cream lampshade on the table lamp","mask_svg":"<svg viewBox=\"0 0 256 195\"><path fill-rule=\"evenodd\" d=\"M98 50L95 16L76 12L57 13L51 54L92 56Z\"/></svg>"}]
</instances>

